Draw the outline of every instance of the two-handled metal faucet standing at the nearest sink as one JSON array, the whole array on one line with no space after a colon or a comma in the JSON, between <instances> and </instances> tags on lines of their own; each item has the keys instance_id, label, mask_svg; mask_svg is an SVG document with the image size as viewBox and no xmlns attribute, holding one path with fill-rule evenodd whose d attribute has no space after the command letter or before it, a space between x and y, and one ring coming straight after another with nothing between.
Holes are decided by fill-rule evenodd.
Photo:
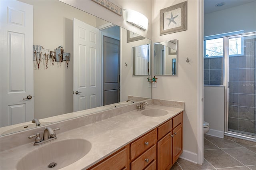
<instances>
[{"instance_id":1,"label":"two-handled metal faucet standing at the nearest sink","mask_svg":"<svg viewBox=\"0 0 256 170\"><path fill-rule=\"evenodd\" d=\"M60 130L60 128L52 129L51 127L45 127L44 128L44 135L43 139L40 137L40 133L28 136L28 138L34 138L36 137L36 140L34 142L34 146L38 146L40 144L44 144L46 142L50 142L52 140L56 140L56 133L54 133L55 130Z\"/></svg>"}]
</instances>

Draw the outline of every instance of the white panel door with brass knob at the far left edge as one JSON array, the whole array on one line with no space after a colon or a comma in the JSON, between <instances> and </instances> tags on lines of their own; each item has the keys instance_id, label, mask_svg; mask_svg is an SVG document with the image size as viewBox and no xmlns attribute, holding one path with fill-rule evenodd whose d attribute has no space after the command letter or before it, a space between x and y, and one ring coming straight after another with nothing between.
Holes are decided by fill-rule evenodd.
<instances>
[{"instance_id":1,"label":"white panel door with brass knob at the far left edge","mask_svg":"<svg viewBox=\"0 0 256 170\"><path fill-rule=\"evenodd\" d=\"M34 119L33 6L1 0L1 127ZM31 99L24 99L27 96Z\"/></svg>"}]
</instances>

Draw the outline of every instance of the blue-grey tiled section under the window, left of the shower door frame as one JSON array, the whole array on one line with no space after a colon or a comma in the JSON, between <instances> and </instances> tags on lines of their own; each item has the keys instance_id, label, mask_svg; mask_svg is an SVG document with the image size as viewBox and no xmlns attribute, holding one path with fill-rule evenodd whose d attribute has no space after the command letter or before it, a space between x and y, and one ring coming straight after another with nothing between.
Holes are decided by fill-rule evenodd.
<instances>
[{"instance_id":1,"label":"blue-grey tiled section under the window, left of the shower door frame","mask_svg":"<svg viewBox=\"0 0 256 170\"><path fill-rule=\"evenodd\" d=\"M223 57L204 59L204 84L223 85Z\"/></svg>"}]
</instances>

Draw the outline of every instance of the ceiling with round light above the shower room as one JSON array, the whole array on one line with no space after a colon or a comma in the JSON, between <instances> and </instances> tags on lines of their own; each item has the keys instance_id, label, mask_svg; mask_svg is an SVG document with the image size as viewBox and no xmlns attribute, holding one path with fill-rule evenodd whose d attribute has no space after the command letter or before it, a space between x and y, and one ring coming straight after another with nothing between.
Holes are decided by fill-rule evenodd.
<instances>
[{"instance_id":1,"label":"ceiling with round light above the shower room","mask_svg":"<svg viewBox=\"0 0 256 170\"><path fill-rule=\"evenodd\" d=\"M225 10L227 8L240 6L254 1L255 0L204 0L204 14ZM224 2L225 4L219 7L215 6L220 2Z\"/></svg>"}]
</instances>

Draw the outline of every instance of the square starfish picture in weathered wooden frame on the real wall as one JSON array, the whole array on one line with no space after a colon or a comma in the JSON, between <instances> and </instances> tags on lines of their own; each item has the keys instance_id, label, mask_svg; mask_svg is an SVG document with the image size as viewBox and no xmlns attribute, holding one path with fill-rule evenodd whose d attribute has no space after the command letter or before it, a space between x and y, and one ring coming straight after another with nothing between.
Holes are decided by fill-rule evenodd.
<instances>
[{"instance_id":1,"label":"square starfish picture in weathered wooden frame on the real wall","mask_svg":"<svg viewBox=\"0 0 256 170\"><path fill-rule=\"evenodd\" d=\"M187 30L187 1L160 10L160 36Z\"/></svg>"}]
</instances>

